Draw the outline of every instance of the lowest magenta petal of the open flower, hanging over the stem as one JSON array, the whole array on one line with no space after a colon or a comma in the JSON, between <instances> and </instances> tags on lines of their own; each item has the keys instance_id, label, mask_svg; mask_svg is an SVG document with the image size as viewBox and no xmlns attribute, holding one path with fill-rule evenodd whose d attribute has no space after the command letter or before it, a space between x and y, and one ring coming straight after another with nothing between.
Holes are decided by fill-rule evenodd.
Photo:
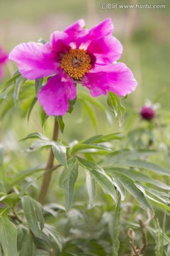
<instances>
[{"instance_id":1,"label":"lowest magenta petal of the open flower, hanging over the stem","mask_svg":"<svg viewBox=\"0 0 170 256\"><path fill-rule=\"evenodd\" d=\"M76 95L76 85L71 78L62 82L60 75L55 75L40 90L38 100L47 115L64 115L69 109L68 100L74 100Z\"/></svg>"}]
</instances>

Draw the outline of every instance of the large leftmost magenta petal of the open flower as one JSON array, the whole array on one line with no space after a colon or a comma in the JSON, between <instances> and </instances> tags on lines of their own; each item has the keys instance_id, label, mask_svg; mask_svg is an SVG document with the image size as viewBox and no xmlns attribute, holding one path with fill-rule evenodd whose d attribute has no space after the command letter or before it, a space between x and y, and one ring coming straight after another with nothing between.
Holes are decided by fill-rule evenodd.
<instances>
[{"instance_id":1,"label":"large leftmost magenta petal of the open flower","mask_svg":"<svg viewBox=\"0 0 170 256\"><path fill-rule=\"evenodd\" d=\"M8 58L16 62L20 73L28 79L53 75L59 65L49 43L21 43L13 48Z\"/></svg>"}]
</instances>

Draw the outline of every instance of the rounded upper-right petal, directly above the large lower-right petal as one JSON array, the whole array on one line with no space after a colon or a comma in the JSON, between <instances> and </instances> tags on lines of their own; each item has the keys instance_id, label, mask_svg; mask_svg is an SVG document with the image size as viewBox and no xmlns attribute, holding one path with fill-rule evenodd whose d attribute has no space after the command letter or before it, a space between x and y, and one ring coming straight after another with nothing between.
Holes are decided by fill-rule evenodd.
<instances>
[{"instance_id":1,"label":"rounded upper-right petal, directly above the large lower-right petal","mask_svg":"<svg viewBox=\"0 0 170 256\"><path fill-rule=\"evenodd\" d=\"M123 46L115 37L106 36L91 41L87 50L96 57L96 64L111 64L120 58Z\"/></svg>"}]
</instances>

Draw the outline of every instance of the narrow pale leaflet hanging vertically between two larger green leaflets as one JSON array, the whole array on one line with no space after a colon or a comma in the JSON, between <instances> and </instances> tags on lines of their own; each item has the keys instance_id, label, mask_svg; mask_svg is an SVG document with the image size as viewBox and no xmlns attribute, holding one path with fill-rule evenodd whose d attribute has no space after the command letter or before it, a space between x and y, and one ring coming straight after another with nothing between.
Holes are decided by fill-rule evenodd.
<instances>
[{"instance_id":1,"label":"narrow pale leaflet hanging vertically between two larger green leaflets","mask_svg":"<svg viewBox=\"0 0 170 256\"><path fill-rule=\"evenodd\" d=\"M96 198L96 183L89 171L86 171L86 188L89 194L89 206L93 208Z\"/></svg>"}]
</instances>

